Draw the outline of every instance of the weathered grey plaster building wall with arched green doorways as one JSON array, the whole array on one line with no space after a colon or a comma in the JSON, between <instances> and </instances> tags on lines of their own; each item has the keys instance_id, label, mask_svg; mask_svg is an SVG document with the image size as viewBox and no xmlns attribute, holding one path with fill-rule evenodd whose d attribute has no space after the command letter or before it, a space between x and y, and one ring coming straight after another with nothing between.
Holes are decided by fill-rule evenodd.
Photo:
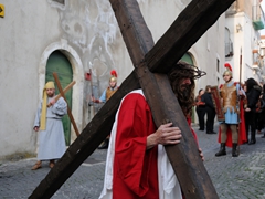
<instances>
[{"instance_id":1,"label":"weathered grey plaster building wall with arched green doorways","mask_svg":"<svg viewBox=\"0 0 265 199\"><path fill-rule=\"evenodd\" d=\"M155 42L189 2L138 0ZM134 66L108 0L2 0L0 3L4 7L0 18L1 159L18 153L35 154L38 134L33 132L33 121L43 86L52 80L53 72L59 74L63 87L76 82L67 102L82 132L94 111L100 108L88 105L92 94L100 96L112 70L117 71L121 84ZM225 27L223 13L183 56L208 73L195 82L197 92L222 81ZM65 128L70 145L76 135L67 119L64 125L70 126Z\"/></svg>"}]
</instances>

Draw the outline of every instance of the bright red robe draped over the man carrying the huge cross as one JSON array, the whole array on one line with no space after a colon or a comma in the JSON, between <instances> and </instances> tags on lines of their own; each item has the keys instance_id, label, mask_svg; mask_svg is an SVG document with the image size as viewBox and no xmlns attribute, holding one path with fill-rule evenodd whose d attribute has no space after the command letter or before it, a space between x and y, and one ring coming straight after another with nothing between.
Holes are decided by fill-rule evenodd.
<instances>
[{"instance_id":1,"label":"bright red robe draped over the man carrying the huge cross","mask_svg":"<svg viewBox=\"0 0 265 199\"><path fill-rule=\"evenodd\" d=\"M125 97L119 109L115 142L114 199L159 198L158 147L146 150L147 136L156 130L146 98L138 93Z\"/></svg>"}]
</instances>

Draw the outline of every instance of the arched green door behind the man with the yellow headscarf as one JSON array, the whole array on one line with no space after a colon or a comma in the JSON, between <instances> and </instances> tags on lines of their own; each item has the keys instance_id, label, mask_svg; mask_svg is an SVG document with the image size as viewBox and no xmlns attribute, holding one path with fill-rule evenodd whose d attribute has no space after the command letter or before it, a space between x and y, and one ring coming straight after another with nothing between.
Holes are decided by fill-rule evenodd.
<instances>
[{"instance_id":1,"label":"arched green door behind the man with the yellow headscarf","mask_svg":"<svg viewBox=\"0 0 265 199\"><path fill-rule=\"evenodd\" d=\"M54 77L53 77L54 72L57 73L57 77L59 77L60 83L63 88L73 81L73 70L72 70L71 63L67 60L67 57L60 51L54 51L50 55L47 63L46 63L45 82L53 81L54 84L56 85ZM57 86L55 86L55 87L56 87L56 94L59 94ZM68 107L71 109L72 109L72 92L73 92L73 90L71 88L65 94ZM65 143L68 146L70 142L71 142L71 121L70 121L68 115L65 115L63 117L63 127L64 127Z\"/></svg>"}]
</instances>

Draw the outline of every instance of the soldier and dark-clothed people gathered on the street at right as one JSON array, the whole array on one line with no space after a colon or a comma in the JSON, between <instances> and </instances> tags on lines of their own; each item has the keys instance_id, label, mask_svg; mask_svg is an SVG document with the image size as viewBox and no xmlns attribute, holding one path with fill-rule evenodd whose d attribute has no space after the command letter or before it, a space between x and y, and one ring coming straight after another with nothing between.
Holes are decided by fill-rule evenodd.
<instances>
[{"instance_id":1,"label":"soldier and dark-clothed people gathered on the street at right","mask_svg":"<svg viewBox=\"0 0 265 199\"><path fill-rule=\"evenodd\" d=\"M199 90L194 101L199 121L199 130L204 130L206 116L206 134L213 132L215 115L218 117L219 137L221 144L216 157L226 155L225 147L232 147L232 156L237 157L237 145L256 143L256 134L262 134L265 127L265 85L254 78L247 78L244 83L234 82L232 67L224 65L224 84L219 85L220 106L211 92L212 86ZM220 113L216 113L220 112ZM265 138L265 132L262 138Z\"/></svg>"}]
</instances>

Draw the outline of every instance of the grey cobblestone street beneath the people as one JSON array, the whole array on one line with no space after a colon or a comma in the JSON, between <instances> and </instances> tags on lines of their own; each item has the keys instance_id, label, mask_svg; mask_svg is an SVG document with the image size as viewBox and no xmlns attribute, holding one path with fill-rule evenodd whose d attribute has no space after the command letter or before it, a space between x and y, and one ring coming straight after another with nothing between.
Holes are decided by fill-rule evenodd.
<instances>
[{"instance_id":1,"label":"grey cobblestone street beneath the people","mask_svg":"<svg viewBox=\"0 0 265 199\"><path fill-rule=\"evenodd\" d=\"M197 126L194 129L197 130ZM215 126L216 130L216 126ZM220 199L265 199L265 139L257 135L255 145L242 145L240 157L214 157L219 150L218 135L197 132L205 157L205 168ZM54 193L53 199L96 199L100 195L106 150L95 150L91 157ZM36 159L0 164L0 199L28 198L50 171L31 170Z\"/></svg>"}]
</instances>

